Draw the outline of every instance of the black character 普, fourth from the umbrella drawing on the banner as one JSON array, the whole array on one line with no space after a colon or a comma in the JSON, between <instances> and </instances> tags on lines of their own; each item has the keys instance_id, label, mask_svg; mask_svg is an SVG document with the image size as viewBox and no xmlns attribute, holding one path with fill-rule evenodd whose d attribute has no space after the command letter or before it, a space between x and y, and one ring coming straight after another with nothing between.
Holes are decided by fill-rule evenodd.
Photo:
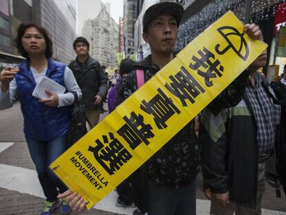
<instances>
[{"instance_id":1,"label":"black character \u666e, fourth from the umbrella drawing on the banner","mask_svg":"<svg viewBox=\"0 0 286 215\"><path fill-rule=\"evenodd\" d=\"M128 142L131 149L135 149L141 142L146 145L149 144L148 138L153 138L152 127L150 124L144 124L142 115L132 112L131 118L128 119L126 115L123 117L126 124L124 124L118 131L122 138Z\"/></svg>"}]
</instances>

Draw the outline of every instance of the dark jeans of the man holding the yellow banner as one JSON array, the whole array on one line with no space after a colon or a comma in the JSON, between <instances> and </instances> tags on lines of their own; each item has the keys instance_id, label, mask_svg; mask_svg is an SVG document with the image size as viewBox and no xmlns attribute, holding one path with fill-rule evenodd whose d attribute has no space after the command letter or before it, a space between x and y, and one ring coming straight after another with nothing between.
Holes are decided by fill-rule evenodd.
<instances>
[{"instance_id":1,"label":"dark jeans of the man holding the yellow banner","mask_svg":"<svg viewBox=\"0 0 286 215\"><path fill-rule=\"evenodd\" d=\"M196 178L180 187L149 183L147 214L196 215L196 184Z\"/></svg>"}]
</instances>

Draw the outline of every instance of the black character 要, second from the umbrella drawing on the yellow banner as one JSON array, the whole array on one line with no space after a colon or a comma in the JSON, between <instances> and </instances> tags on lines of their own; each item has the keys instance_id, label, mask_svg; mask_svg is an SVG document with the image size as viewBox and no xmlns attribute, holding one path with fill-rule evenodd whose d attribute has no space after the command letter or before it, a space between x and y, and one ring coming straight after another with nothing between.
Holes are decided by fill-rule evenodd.
<instances>
[{"instance_id":1,"label":"black character \u8981, second from the umbrella drawing on the yellow banner","mask_svg":"<svg viewBox=\"0 0 286 215\"><path fill-rule=\"evenodd\" d=\"M189 100L191 104L195 102L195 98L200 94L204 93L204 88L193 78L193 76L187 71L184 66L181 70L173 75L170 75L171 84L165 84L166 88L177 96L182 102L182 106L187 106L185 100Z\"/></svg>"}]
</instances>

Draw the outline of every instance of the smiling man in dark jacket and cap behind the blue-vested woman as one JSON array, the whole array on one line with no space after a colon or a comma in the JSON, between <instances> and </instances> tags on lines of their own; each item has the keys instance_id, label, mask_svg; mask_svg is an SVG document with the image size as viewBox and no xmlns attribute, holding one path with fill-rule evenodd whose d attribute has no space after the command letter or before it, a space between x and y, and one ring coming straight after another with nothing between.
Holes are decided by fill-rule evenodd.
<instances>
[{"instance_id":1,"label":"smiling man in dark jacket and cap behind the blue-vested woman","mask_svg":"<svg viewBox=\"0 0 286 215\"><path fill-rule=\"evenodd\" d=\"M89 43L84 37L77 37L73 42L77 58L68 64L73 71L79 88L82 89L83 102L86 106L86 120L90 129L99 122L100 108L106 97L107 77L102 66L88 55Z\"/></svg>"}]
</instances>

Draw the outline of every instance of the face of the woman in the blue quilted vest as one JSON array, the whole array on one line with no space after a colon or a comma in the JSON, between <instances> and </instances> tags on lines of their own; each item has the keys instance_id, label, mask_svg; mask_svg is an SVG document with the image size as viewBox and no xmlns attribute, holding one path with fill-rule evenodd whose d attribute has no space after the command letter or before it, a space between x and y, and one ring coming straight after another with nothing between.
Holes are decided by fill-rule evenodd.
<instances>
[{"instance_id":1,"label":"face of the woman in the blue quilted vest","mask_svg":"<svg viewBox=\"0 0 286 215\"><path fill-rule=\"evenodd\" d=\"M35 27L26 29L22 37L22 46L29 56L43 55L47 48L44 35Z\"/></svg>"}]
</instances>

